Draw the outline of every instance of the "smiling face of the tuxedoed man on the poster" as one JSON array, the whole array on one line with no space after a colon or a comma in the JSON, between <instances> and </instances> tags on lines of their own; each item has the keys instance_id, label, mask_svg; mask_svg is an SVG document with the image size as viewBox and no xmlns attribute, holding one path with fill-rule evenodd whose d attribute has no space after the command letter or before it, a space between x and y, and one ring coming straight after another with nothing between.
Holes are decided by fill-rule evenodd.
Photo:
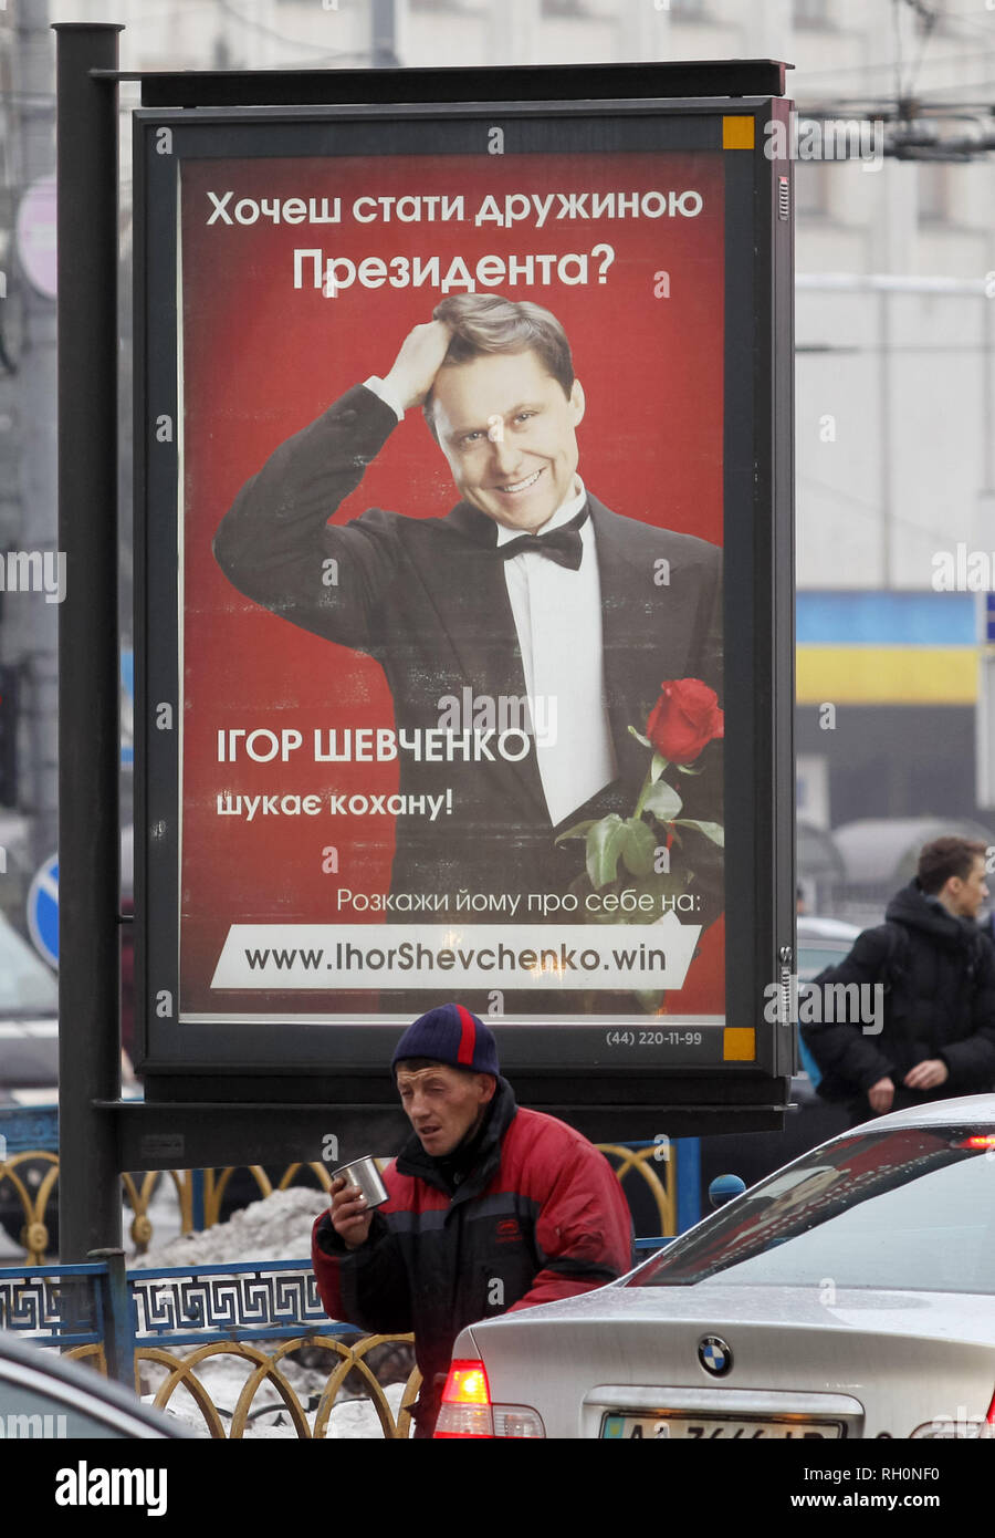
<instances>
[{"instance_id":1,"label":"smiling face of the tuxedoed man on the poster","mask_svg":"<svg viewBox=\"0 0 995 1538\"><path fill-rule=\"evenodd\" d=\"M448 365L435 375L432 401L460 495L495 523L532 534L578 489L584 392L574 380L567 397L535 352Z\"/></svg>"}]
</instances>

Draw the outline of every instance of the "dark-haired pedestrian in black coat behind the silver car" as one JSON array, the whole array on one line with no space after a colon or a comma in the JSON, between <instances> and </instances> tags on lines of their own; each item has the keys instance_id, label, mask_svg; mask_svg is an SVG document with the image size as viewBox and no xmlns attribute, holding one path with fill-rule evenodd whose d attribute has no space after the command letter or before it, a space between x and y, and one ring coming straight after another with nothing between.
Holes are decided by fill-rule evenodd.
<instances>
[{"instance_id":1,"label":"dark-haired pedestrian in black coat behind the silver car","mask_svg":"<svg viewBox=\"0 0 995 1538\"><path fill-rule=\"evenodd\" d=\"M977 923L989 891L986 846L937 838L915 880L889 903L886 923L857 937L823 986L880 986L872 1018L827 1018L801 1034L823 1078L820 1095L849 1101L854 1124L887 1110L995 1086L995 947ZM857 992L852 994L857 998Z\"/></svg>"}]
</instances>

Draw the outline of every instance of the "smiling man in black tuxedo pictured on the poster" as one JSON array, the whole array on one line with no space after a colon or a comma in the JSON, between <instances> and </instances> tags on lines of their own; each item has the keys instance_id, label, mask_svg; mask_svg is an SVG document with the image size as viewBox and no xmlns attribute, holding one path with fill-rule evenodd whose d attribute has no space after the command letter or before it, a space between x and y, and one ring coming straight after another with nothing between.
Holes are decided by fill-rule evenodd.
<instances>
[{"instance_id":1,"label":"smiling man in black tuxedo pictured on the poster","mask_svg":"<svg viewBox=\"0 0 995 1538\"><path fill-rule=\"evenodd\" d=\"M374 508L329 524L417 406L461 500L446 518ZM649 754L629 727L644 731L661 680L720 684L720 551L591 495L583 417L549 311L449 297L383 378L269 457L217 532L240 592L384 669L398 738L420 743L398 754L404 807L451 792L435 820L398 817L395 894L517 894L517 921L534 921L526 894L583 871L583 844L557 832L632 815ZM720 815L718 752L681 787L689 817L695 792Z\"/></svg>"}]
</instances>

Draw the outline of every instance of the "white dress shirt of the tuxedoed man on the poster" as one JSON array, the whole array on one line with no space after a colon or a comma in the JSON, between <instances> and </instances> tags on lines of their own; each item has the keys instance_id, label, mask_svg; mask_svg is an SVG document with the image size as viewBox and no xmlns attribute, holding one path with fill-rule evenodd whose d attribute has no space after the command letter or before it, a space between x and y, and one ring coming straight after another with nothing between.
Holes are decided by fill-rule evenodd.
<instances>
[{"instance_id":1,"label":"white dress shirt of the tuxedoed man on the poster","mask_svg":"<svg viewBox=\"0 0 995 1538\"><path fill-rule=\"evenodd\" d=\"M404 412L377 375L364 380L398 417ZM557 508L538 537L575 518L587 500L580 475L572 495ZM498 548L523 529L497 524ZM618 767L604 697L601 580L591 518L580 529L578 571L537 551L504 561L504 583L524 671L535 754L549 820L555 826L603 786ZM500 701L495 700L500 712Z\"/></svg>"}]
</instances>

